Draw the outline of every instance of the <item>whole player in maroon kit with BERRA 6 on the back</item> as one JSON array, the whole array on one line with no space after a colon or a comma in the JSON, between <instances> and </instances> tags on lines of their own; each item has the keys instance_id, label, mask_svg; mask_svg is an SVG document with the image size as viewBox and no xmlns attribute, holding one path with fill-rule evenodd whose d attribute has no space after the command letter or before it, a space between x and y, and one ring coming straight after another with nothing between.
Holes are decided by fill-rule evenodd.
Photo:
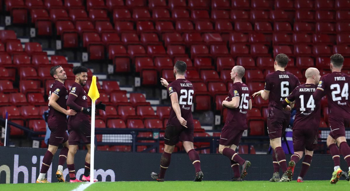
<instances>
[{"instance_id":1,"label":"whole player in maroon kit with BERRA 6 on the back","mask_svg":"<svg viewBox=\"0 0 350 191\"><path fill-rule=\"evenodd\" d=\"M264 90L253 94L253 97L261 96L264 100L268 99L267 132L273 148L272 160L274 167L274 173L270 182L289 181L286 174L286 155L281 147L281 137L289 125L290 111L283 109L282 101L300 85L300 82L292 73L285 71L288 61L287 55L278 54L274 62L275 72L266 76ZM283 171L281 179L279 175L280 167Z\"/></svg>"}]
</instances>

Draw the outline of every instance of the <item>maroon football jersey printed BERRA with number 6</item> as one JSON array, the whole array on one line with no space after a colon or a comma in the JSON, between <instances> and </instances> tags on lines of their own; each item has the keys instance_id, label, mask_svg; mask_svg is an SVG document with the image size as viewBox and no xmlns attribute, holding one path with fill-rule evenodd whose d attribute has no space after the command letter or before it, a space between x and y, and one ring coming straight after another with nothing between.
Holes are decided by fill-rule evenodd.
<instances>
[{"instance_id":1,"label":"maroon football jersey printed BERRA with number 6","mask_svg":"<svg viewBox=\"0 0 350 191\"><path fill-rule=\"evenodd\" d=\"M290 118L290 111L283 109L282 101L299 85L299 79L287 71L277 70L266 76L264 91L270 92L268 98L269 118Z\"/></svg>"}]
</instances>

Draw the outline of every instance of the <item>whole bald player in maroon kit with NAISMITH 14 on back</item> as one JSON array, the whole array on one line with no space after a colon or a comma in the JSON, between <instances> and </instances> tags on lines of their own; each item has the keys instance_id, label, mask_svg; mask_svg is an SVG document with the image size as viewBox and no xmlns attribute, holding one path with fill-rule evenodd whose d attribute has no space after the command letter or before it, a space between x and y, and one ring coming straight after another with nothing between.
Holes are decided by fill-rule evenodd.
<instances>
[{"instance_id":1,"label":"whole bald player in maroon kit with NAISMITH 14 on back","mask_svg":"<svg viewBox=\"0 0 350 191\"><path fill-rule=\"evenodd\" d=\"M305 150L305 157L299 177L296 182L303 182L308 171L314 148L317 144L318 126L321 120L320 102L315 102L312 94L320 82L320 71L316 68L308 68L305 72L306 83L296 87L289 96L282 101L282 106L290 111L290 104L295 101L296 114L293 123L293 146L294 155L290 157L287 168L287 175L293 177L295 164L302 158Z\"/></svg>"}]
</instances>

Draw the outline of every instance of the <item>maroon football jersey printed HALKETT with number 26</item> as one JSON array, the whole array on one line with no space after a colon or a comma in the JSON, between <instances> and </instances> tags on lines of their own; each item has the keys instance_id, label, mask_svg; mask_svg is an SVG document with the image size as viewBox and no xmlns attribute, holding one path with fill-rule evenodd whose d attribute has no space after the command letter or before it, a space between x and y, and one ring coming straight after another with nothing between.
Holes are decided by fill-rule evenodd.
<instances>
[{"instance_id":1,"label":"maroon football jersey printed HALKETT with number 26","mask_svg":"<svg viewBox=\"0 0 350 191\"><path fill-rule=\"evenodd\" d=\"M177 79L168 85L168 93L171 96L173 93L177 93L179 99L179 105L181 109L181 116L187 121L187 127L194 125L192 117L192 101L193 101L193 86L187 79ZM170 116L168 124L171 126L181 126L180 121L176 117L176 113L173 106L170 106Z\"/></svg>"}]
</instances>

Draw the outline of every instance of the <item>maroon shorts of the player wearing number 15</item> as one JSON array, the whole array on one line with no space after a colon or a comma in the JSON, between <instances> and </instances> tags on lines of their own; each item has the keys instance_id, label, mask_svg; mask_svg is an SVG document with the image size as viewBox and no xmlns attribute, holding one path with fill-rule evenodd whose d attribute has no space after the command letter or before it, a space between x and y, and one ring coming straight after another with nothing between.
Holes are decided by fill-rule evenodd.
<instances>
[{"instance_id":1,"label":"maroon shorts of the player wearing number 15","mask_svg":"<svg viewBox=\"0 0 350 191\"><path fill-rule=\"evenodd\" d=\"M231 146L232 144L238 146L243 132L244 130L222 128L220 135L220 144L224 146Z\"/></svg>"}]
</instances>

